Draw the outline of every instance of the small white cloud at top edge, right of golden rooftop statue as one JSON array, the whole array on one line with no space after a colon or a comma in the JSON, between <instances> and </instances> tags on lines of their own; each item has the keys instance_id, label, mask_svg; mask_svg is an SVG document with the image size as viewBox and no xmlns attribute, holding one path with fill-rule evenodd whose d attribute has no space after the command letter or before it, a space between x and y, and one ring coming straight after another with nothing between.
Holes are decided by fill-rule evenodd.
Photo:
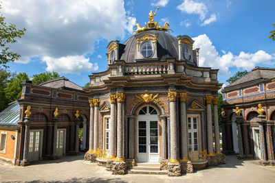
<instances>
[{"instance_id":1,"label":"small white cloud at top edge, right of golden rooftop statue","mask_svg":"<svg viewBox=\"0 0 275 183\"><path fill-rule=\"evenodd\" d=\"M202 21L208 12L205 3L196 3L192 0L184 0L183 3L177 6L178 10L187 14L199 14L199 19Z\"/></svg>"}]
</instances>

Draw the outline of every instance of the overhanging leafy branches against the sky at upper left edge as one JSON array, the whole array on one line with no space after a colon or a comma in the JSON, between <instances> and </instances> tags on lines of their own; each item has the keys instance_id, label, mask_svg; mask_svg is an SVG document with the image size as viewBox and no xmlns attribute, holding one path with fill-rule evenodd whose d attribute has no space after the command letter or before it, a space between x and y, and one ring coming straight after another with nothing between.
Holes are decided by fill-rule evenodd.
<instances>
[{"instance_id":1,"label":"overhanging leafy branches against the sky at upper left edge","mask_svg":"<svg viewBox=\"0 0 275 183\"><path fill-rule=\"evenodd\" d=\"M13 53L10 51L10 48L6 45L17 42L16 38L21 38L25 31L25 28L17 29L17 27L12 23L5 23L5 17L3 17L0 12L0 66L2 65L3 67L7 68L8 62L14 62L21 57L18 53Z\"/></svg>"}]
</instances>

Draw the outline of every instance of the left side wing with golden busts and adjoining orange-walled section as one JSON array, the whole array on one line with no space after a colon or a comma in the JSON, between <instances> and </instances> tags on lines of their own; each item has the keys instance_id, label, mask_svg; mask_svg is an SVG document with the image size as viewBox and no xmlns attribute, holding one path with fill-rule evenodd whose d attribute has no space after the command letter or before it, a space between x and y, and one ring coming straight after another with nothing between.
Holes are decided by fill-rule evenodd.
<instances>
[{"instance_id":1,"label":"left side wing with golden busts and adjoining orange-walled section","mask_svg":"<svg viewBox=\"0 0 275 183\"><path fill-rule=\"evenodd\" d=\"M0 113L0 158L25 166L32 161L78 154L78 124L87 144L88 95L65 77L39 86L23 84L21 99Z\"/></svg>"}]
</instances>

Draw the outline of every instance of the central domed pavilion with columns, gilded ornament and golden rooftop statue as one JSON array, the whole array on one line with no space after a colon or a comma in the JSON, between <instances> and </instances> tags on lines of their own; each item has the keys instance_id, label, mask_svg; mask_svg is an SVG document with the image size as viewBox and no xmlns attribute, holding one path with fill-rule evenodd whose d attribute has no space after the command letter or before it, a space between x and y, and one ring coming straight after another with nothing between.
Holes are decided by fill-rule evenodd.
<instances>
[{"instance_id":1,"label":"central domed pavilion with columns, gilded ornament and golden rooftop statue","mask_svg":"<svg viewBox=\"0 0 275 183\"><path fill-rule=\"evenodd\" d=\"M136 34L125 42L109 42L107 71L89 75L85 89L90 97L85 160L114 174L137 173L149 163L159 173L181 175L225 162L218 70L200 67L194 40L168 34L168 23L154 22L156 13L149 13L146 27L137 23Z\"/></svg>"}]
</instances>

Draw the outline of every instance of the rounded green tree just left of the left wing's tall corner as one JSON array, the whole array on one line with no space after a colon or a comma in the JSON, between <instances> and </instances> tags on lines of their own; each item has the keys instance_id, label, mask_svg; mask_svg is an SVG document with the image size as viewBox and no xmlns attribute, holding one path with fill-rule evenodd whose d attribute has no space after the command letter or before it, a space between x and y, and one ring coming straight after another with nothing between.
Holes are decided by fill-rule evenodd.
<instances>
[{"instance_id":1,"label":"rounded green tree just left of the left wing's tall corner","mask_svg":"<svg viewBox=\"0 0 275 183\"><path fill-rule=\"evenodd\" d=\"M13 73L12 78L8 82L8 86L5 88L5 97L8 103L17 100L22 95L22 82L23 80L29 80L26 73Z\"/></svg>"}]
</instances>

